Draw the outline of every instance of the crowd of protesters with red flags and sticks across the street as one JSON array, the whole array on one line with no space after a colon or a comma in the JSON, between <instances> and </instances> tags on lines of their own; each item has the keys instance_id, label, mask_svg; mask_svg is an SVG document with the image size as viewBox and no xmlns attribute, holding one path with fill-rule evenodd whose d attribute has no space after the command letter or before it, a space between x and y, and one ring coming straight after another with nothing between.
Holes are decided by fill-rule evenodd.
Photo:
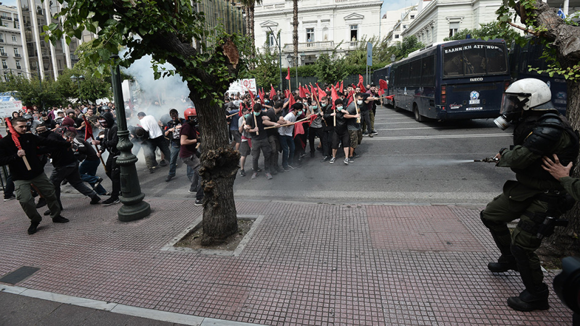
<instances>
[{"instance_id":1,"label":"crowd of protesters with red flags and sticks across the street","mask_svg":"<svg viewBox=\"0 0 580 326\"><path fill-rule=\"evenodd\" d=\"M310 158L320 152L321 162L334 164L343 153L343 164L353 163L359 156L356 148L362 137L376 135L374 114L380 102L375 86L367 88L359 85L342 90L331 87L286 93L272 89L269 94L226 93L224 114L231 146L241 154L240 176L246 176L248 155L252 155L252 179L262 171L260 166L267 179L299 168L307 150ZM166 182L176 178L179 157L187 166L188 191L195 194L194 205L202 205L202 134L193 103L187 99L182 102L178 108L164 108L164 103L154 102L143 111L133 106L125 110L132 152L137 155L143 148L149 173L169 166ZM89 204L119 203L120 151L113 103L69 104L47 110L33 106L14 111L6 118L5 135L0 139L0 165L7 165L10 173L5 175L4 201L16 198L20 202L31 220L28 234L37 231L42 219L37 209L46 205L45 216L50 215L55 223L68 222L61 215L66 209L60 200L63 184L89 197ZM49 162L53 168L47 177L44 167ZM97 175L100 164L113 185L110 191ZM101 201L100 196L109 197Z\"/></svg>"}]
</instances>

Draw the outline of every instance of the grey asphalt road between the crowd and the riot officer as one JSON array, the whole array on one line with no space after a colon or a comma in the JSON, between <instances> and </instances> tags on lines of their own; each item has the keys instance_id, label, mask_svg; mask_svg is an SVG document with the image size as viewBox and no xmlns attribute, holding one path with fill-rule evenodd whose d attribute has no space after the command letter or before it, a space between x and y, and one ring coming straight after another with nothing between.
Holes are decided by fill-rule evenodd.
<instances>
[{"instance_id":1,"label":"grey asphalt road between the crowd and the riot officer","mask_svg":"<svg viewBox=\"0 0 580 326\"><path fill-rule=\"evenodd\" d=\"M329 164L320 162L320 152L310 158L307 148L302 167L274 175L272 180L261 172L251 180L248 157L247 176L238 173L234 195L244 200L331 204L483 205L501 193L506 179L514 178L509 169L473 162L495 155L511 143L511 136L497 128L492 119L416 122L407 111L382 107L375 118L375 129L379 135L364 137L357 149L361 156L349 165L343 164L340 151L335 164ZM187 193L189 180L183 164L177 168L177 178L165 182L168 168L149 174L142 152L137 157L139 180L147 197L193 197ZM104 177L102 168L98 173ZM111 189L108 179L103 185ZM63 186L63 193L67 192L75 190Z\"/></svg>"}]
</instances>

